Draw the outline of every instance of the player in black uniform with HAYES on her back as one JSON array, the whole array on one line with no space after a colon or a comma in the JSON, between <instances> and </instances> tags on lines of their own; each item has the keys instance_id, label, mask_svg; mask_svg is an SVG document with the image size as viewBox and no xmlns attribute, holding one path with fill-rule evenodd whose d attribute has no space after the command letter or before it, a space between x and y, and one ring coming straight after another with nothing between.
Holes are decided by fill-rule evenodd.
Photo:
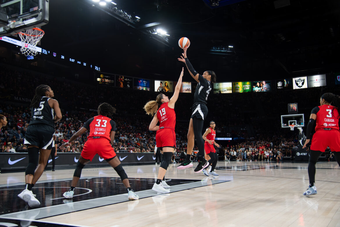
<instances>
[{"instance_id":1,"label":"player in black uniform with HAYES on her back","mask_svg":"<svg viewBox=\"0 0 340 227\"><path fill-rule=\"evenodd\" d=\"M30 105L32 118L24 141L24 144L28 146L29 159L25 172L26 188L18 195L19 198L28 202L30 207L40 205L39 200L32 193L32 187L43 174L51 154L54 123L62 118L59 103L57 100L52 99L53 97L54 93L51 87L43 84L39 85L35 89L35 95ZM38 158L39 152L40 156Z\"/></svg>"}]
</instances>

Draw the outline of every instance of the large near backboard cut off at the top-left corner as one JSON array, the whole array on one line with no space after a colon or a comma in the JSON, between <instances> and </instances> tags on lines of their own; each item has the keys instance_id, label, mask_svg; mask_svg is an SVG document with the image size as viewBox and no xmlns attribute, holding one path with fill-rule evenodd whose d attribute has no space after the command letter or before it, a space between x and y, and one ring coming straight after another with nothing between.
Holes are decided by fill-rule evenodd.
<instances>
[{"instance_id":1,"label":"large near backboard cut off at the top-left corner","mask_svg":"<svg viewBox=\"0 0 340 227\"><path fill-rule=\"evenodd\" d=\"M46 25L49 20L49 0L1 0L0 12L8 16L8 24L1 23L0 37L14 35Z\"/></svg>"}]
</instances>

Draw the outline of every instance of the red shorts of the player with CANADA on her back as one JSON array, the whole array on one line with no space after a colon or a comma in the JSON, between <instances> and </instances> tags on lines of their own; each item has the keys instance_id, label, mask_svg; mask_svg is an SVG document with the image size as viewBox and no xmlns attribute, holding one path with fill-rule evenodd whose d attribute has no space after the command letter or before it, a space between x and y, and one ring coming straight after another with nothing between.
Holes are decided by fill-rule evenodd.
<instances>
[{"instance_id":1,"label":"red shorts of the player with CANADA on her back","mask_svg":"<svg viewBox=\"0 0 340 227\"><path fill-rule=\"evenodd\" d=\"M329 147L331 151L340 151L340 132L338 130L317 130L310 145L311 150L325 152Z\"/></svg>"}]
</instances>

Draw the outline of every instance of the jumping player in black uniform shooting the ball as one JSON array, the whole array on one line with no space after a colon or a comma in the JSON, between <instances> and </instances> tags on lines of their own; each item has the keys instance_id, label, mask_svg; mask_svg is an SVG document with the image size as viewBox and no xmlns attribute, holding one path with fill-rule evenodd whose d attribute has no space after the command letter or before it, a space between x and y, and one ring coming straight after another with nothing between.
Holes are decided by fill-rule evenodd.
<instances>
[{"instance_id":1,"label":"jumping player in black uniform shooting the ball","mask_svg":"<svg viewBox=\"0 0 340 227\"><path fill-rule=\"evenodd\" d=\"M191 63L187 58L187 49L183 49L181 58L179 61L184 62L189 70L190 75L198 82L196 91L194 94L194 104L192 106L192 114L189 123L188 130L188 146L187 146L187 156L186 160L177 166L179 169L184 169L192 166L190 157L192 149L194 146L194 141L196 142L199 150L199 164L195 168L194 172L201 172L206 166L210 165L209 161L204 159L204 140L202 138L203 122L208 114L208 108L206 106L207 99L210 91L212 90L211 82L216 82L216 74L214 71L205 71L203 75L200 75L196 70L193 69ZM213 160L212 160L213 161Z\"/></svg>"}]
</instances>

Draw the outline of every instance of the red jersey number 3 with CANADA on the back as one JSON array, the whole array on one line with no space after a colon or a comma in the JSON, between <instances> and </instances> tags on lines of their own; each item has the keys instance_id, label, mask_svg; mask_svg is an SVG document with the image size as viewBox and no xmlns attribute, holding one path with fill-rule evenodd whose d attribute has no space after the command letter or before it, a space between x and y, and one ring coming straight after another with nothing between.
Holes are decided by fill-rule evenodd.
<instances>
[{"instance_id":1,"label":"red jersey number 3 with CANADA on the back","mask_svg":"<svg viewBox=\"0 0 340 227\"><path fill-rule=\"evenodd\" d=\"M319 108L319 111L317 111ZM318 129L329 128L339 131L339 112L338 109L330 105L322 105L313 109L312 113L316 113L316 127Z\"/></svg>"}]
</instances>

